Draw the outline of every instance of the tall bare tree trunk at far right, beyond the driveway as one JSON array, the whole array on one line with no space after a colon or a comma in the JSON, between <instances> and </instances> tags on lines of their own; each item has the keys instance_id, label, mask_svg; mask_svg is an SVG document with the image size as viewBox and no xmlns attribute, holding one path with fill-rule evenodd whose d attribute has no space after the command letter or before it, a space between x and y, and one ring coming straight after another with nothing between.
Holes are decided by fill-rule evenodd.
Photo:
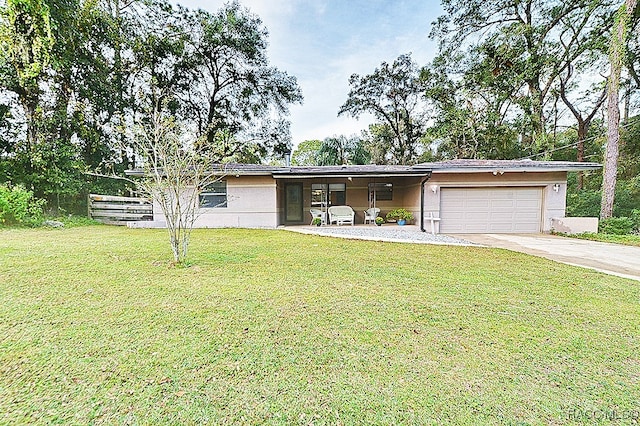
<instances>
[{"instance_id":1,"label":"tall bare tree trunk at far right, beyond the driveway","mask_svg":"<svg viewBox=\"0 0 640 426\"><path fill-rule=\"evenodd\" d=\"M620 90L620 73L625 56L627 24L637 5L638 0L625 1L618 11L616 23L611 35L611 48L609 51L611 75L609 76L607 88L607 147L602 176L601 219L607 219L613 215L613 202L615 199L618 175L618 154L620 149L620 105L618 97Z\"/></svg>"}]
</instances>

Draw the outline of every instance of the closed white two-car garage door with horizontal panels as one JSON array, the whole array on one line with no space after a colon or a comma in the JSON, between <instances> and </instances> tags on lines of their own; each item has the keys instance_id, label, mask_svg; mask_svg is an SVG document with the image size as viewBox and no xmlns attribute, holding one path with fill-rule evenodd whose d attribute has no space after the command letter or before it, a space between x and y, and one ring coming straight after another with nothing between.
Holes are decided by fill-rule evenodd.
<instances>
[{"instance_id":1,"label":"closed white two-car garage door with horizontal panels","mask_svg":"<svg viewBox=\"0 0 640 426\"><path fill-rule=\"evenodd\" d=\"M442 233L537 233L542 188L442 188Z\"/></svg>"}]
</instances>

